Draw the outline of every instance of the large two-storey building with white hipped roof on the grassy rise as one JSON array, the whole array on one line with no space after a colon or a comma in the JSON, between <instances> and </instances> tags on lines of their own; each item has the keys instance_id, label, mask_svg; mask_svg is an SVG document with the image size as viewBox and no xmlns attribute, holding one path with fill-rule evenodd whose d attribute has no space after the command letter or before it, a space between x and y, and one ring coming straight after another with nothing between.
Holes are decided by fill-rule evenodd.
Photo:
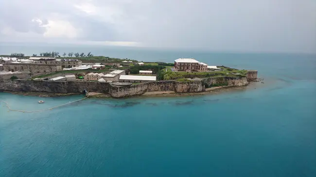
<instances>
[{"instance_id":1,"label":"large two-storey building with white hipped roof on the grassy rise","mask_svg":"<svg viewBox=\"0 0 316 177\"><path fill-rule=\"evenodd\" d=\"M179 58L175 60L175 68L179 71L203 72L208 70L208 65L193 58Z\"/></svg>"}]
</instances>

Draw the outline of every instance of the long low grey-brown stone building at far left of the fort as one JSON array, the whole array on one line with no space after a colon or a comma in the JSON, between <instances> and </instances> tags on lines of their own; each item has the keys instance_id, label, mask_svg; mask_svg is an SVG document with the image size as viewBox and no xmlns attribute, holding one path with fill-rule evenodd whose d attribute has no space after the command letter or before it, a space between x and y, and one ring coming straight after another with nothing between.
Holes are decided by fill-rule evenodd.
<instances>
[{"instance_id":1,"label":"long low grey-brown stone building at far left of the fort","mask_svg":"<svg viewBox=\"0 0 316 177\"><path fill-rule=\"evenodd\" d=\"M61 71L62 67L59 64L34 64L34 63L11 63L3 64L5 71L28 71L31 73L49 73Z\"/></svg>"}]
</instances>

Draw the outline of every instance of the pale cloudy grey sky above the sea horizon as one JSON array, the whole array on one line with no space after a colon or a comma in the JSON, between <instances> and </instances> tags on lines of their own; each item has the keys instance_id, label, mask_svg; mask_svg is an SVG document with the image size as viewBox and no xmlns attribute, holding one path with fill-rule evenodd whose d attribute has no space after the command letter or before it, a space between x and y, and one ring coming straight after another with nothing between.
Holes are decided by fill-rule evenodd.
<instances>
[{"instance_id":1,"label":"pale cloudy grey sky above the sea horizon","mask_svg":"<svg viewBox=\"0 0 316 177\"><path fill-rule=\"evenodd\" d=\"M0 43L316 53L316 0L0 0Z\"/></svg>"}]
</instances>

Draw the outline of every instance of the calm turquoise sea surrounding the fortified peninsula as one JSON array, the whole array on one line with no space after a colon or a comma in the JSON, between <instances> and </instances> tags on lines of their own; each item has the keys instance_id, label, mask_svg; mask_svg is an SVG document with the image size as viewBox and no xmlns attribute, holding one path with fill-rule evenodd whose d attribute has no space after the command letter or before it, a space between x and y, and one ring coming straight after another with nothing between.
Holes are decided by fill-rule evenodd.
<instances>
[{"instance_id":1,"label":"calm turquoise sea surrounding the fortified peninsula","mask_svg":"<svg viewBox=\"0 0 316 177\"><path fill-rule=\"evenodd\" d=\"M111 52L258 69L264 83L194 97L85 99L40 113L1 103L0 177L316 176L316 55ZM0 93L28 111L82 97Z\"/></svg>"}]
</instances>

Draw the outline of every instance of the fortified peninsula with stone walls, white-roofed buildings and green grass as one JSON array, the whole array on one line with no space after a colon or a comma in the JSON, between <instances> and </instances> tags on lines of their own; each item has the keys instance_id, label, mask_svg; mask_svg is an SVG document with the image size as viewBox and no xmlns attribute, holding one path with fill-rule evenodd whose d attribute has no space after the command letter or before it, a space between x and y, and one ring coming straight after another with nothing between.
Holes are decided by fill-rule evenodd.
<instances>
[{"instance_id":1,"label":"fortified peninsula with stone walls, white-roofed buildings and green grass","mask_svg":"<svg viewBox=\"0 0 316 177\"><path fill-rule=\"evenodd\" d=\"M151 92L201 93L246 86L257 80L257 75L257 70L208 65L193 58L163 63L93 56L90 52L0 55L0 91L50 96L102 93L121 98Z\"/></svg>"}]
</instances>

